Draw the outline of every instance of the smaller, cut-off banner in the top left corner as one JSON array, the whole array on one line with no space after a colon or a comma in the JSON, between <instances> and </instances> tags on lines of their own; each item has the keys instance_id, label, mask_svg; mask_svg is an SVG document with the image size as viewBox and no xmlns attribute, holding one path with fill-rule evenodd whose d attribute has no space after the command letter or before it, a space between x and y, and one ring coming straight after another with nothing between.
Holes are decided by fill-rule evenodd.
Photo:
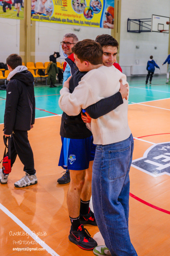
<instances>
[{"instance_id":1,"label":"smaller, cut-off banner in the top left corner","mask_svg":"<svg viewBox=\"0 0 170 256\"><path fill-rule=\"evenodd\" d=\"M24 0L0 0L0 18L23 19Z\"/></svg>"}]
</instances>

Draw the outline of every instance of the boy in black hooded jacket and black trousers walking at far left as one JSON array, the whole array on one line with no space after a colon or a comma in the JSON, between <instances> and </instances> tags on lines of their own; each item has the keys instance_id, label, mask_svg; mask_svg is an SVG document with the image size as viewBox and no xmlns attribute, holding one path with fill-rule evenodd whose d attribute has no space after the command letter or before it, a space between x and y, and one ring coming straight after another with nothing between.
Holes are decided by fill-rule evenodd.
<instances>
[{"instance_id":1,"label":"boy in black hooded jacket and black trousers walking at far left","mask_svg":"<svg viewBox=\"0 0 170 256\"><path fill-rule=\"evenodd\" d=\"M28 140L28 130L35 122L34 77L22 66L22 58L11 54L6 60L10 71L7 80L4 114L4 135L11 136L11 167L17 155L24 165L26 175L14 183L15 187L27 187L37 183L34 156ZM8 153L7 153L8 154ZM0 182L6 184L9 174L0 169Z\"/></svg>"}]
</instances>

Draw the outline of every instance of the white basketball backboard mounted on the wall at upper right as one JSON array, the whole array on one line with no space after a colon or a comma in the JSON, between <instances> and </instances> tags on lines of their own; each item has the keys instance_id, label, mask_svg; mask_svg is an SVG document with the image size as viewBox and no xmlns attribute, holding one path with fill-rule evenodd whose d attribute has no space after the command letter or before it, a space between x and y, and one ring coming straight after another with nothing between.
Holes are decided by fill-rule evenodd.
<instances>
[{"instance_id":1,"label":"white basketball backboard mounted on the wall at upper right","mask_svg":"<svg viewBox=\"0 0 170 256\"><path fill-rule=\"evenodd\" d=\"M152 14L151 31L169 33L169 17Z\"/></svg>"}]
</instances>

